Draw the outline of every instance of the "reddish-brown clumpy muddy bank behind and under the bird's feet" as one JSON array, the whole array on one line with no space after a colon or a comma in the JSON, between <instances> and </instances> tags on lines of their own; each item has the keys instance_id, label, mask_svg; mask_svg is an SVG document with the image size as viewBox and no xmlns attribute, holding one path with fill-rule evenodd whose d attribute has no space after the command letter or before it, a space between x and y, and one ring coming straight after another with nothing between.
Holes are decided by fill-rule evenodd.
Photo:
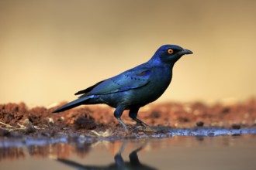
<instances>
[{"instance_id":1,"label":"reddish-brown clumpy muddy bank behind and under the bird's feet","mask_svg":"<svg viewBox=\"0 0 256 170\"><path fill-rule=\"evenodd\" d=\"M114 118L113 109L102 105L82 106L52 114L52 111L62 104L51 108L29 108L24 103L0 104L0 137L53 137L60 133L105 137L152 133L139 127L125 111L122 119L131 130L130 134L126 134ZM233 130L254 128L256 99L237 104L212 106L199 102L150 104L140 109L138 117L161 134L164 134L165 128L219 127Z\"/></svg>"}]
</instances>

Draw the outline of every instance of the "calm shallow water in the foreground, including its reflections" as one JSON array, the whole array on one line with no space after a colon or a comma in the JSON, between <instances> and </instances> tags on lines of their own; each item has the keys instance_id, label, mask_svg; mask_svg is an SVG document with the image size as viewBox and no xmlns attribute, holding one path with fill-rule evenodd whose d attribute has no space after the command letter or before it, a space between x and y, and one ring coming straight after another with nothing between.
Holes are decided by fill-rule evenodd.
<instances>
[{"instance_id":1,"label":"calm shallow water in the foreground, including its reflections","mask_svg":"<svg viewBox=\"0 0 256 170\"><path fill-rule=\"evenodd\" d=\"M53 140L53 139L51 139ZM3 144L2 141L0 141ZM21 145L23 144L23 145ZM255 169L256 135L21 142L0 147L0 169Z\"/></svg>"}]
</instances>

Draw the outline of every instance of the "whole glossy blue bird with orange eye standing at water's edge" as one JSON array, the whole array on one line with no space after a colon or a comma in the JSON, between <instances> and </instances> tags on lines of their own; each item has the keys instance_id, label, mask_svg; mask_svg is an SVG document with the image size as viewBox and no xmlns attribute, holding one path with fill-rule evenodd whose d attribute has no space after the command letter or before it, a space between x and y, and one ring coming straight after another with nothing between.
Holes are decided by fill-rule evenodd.
<instances>
[{"instance_id":1,"label":"whole glossy blue bird with orange eye standing at water's edge","mask_svg":"<svg viewBox=\"0 0 256 170\"><path fill-rule=\"evenodd\" d=\"M116 108L114 116L126 131L128 128L121 119L124 110L130 110L129 117L148 127L137 118L138 110L161 97L171 83L175 62L185 54L192 54L192 51L176 45L161 46L146 63L78 91L75 95L81 96L77 100L57 108L53 113L81 104L107 104Z\"/></svg>"}]
</instances>

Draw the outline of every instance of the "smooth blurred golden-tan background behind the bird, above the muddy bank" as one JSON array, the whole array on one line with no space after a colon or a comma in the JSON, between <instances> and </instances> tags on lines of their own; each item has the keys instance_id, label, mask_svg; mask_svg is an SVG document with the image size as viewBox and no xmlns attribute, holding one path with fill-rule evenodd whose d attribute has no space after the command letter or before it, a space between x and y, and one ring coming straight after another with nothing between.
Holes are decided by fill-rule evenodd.
<instances>
[{"instance_id":1,"label":"smooth blurred golden-tan background behind the bird, above the muddy bank","mask_svg":"<svg viewBox=\"0 0 256 170\"><path fill-rule=\"evenodd\" d=\"M176 63L157 102L256 95L254 0L0 1L0 103L47 106L146 62L163 44Z\"/></svg>"}]
</instances>

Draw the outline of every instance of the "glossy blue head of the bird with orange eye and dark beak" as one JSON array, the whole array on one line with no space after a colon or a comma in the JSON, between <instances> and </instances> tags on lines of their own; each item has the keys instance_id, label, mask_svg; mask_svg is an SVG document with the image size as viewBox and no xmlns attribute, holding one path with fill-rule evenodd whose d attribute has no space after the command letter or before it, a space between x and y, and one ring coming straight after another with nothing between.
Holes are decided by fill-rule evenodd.
<instances>
[{"instance_id":1,"label":"glossy blue head of the bird with orange eye and dark beak","mask_svg":"<svg viewBox=\"0 0 256 170\"><path fill-rule=\"evenodd\" d=\"M181 46L164 45L157 49L157 52L150 60L174 64L185 54L192 54L192 51L189 49L183 49Z\"/></svg>"}]
</instances>

